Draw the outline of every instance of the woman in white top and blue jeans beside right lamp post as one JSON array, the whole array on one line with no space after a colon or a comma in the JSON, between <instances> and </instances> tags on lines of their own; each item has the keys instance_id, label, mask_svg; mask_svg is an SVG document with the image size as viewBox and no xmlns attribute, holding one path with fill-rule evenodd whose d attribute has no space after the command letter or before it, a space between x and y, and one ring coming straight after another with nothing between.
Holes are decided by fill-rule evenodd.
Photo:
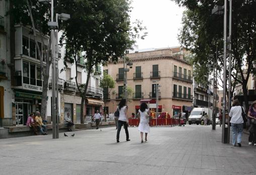
<instances>
[{"instance_id":1,"label":"woman in white top and blue jeans beside right lamp post","mask_svg":"<svg viewBox=\"0 0 256 175\"><path fill-rule=\"evenodd\" d=\"M229 112L231 117L230 123L232 128L232 145L236 146L236 142L241 147L243 119L242 119L242 106L237 99L233 101L232 107Z\"/></svg>"}]
</instances>

